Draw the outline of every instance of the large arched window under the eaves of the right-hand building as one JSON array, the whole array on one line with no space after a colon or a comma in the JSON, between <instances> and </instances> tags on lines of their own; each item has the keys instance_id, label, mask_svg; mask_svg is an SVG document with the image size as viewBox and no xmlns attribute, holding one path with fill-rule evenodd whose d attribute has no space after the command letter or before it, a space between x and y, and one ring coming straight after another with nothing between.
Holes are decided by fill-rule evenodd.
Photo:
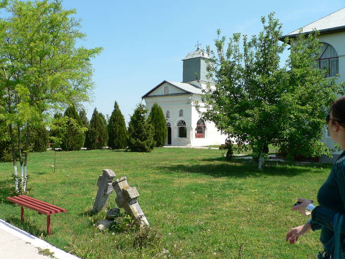
<instances>
[{"instance_id":1,"label":"large arched window under the eaves of the right-hand building","mask_svg":"<svg viewBox=\"0 0 345 259\"><path fill-rule=\"evenodd\" d=\"M326 70L326 76L335 76L339 73L339 58L337 51L330 44L322 43L321 54L316 59L316 66L319 69Z\"/></svg>"}]
</instances>

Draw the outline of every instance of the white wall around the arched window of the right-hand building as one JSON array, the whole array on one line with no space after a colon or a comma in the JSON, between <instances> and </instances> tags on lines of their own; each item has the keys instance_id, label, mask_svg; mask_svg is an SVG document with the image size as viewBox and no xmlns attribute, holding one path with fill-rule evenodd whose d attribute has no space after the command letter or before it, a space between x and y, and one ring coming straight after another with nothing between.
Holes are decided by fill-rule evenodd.
<instances>
[{"instance_id":1,"label":"white wall around the arched window of the right-hand building","mask_svg":"<svg viewBox=\"0 0 345 259\"><path fill-rule=\"evenodd\" d=\"M339 75L340 76L336 79L336 82L337 83L344 82L345 81L345 44L344 44L345 32L320 35L319 41L330 44L337 51L337 54L339 56ZM326 144L328 148L333 148L336 143L331 139L331 137L327 133L326 127L324 128L324 131L325 132L323 133L323 142ZM338 155L341 152L342 151L334 152L333 158L328 158L328 157L323 156L320 158L320 161L332 162L338 157Z\"/></svg>"}]
</instances>

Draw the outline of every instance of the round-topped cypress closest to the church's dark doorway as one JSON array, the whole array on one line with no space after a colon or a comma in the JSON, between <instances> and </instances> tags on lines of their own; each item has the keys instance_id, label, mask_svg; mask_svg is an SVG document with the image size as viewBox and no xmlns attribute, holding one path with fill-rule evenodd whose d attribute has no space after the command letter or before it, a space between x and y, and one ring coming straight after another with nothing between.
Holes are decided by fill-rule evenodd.
<instances>
[{"instance_id":1,"label":"round-topped cypress closest to the church's dark doorway","mask_svg":"<svg viewBox=\"0 0 345 259\"><path fill-rule=\"evenodd\" d=\"M155 103L152 106L148 120L154 128L153 139L156 142L156 147L163 147L168 136L168 131L164 113L158 104Z\"/></svg>"}]
</instances>

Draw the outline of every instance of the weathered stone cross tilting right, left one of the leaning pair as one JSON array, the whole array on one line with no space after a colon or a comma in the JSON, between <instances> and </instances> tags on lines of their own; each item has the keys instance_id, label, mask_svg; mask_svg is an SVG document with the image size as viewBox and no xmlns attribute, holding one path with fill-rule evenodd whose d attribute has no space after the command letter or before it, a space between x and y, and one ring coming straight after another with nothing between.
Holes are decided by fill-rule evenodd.
<instances>
[{"instance_id":1,"label":"weathered stone cross tilting right, left one of the leaning pair","mask_svg":"<svg viewBox=\"0 0 345 259\"><path fill-rule=\"evenodd\" d=\"M103 175L100 175L98 178L97 186L98 191L94 203L94 207L92 208L92 212L97 213L103 210L107 203L109 195L114 190L112 181L115 177L115 173L110 169L103 169Z\"/></svg>"}]
</instances>

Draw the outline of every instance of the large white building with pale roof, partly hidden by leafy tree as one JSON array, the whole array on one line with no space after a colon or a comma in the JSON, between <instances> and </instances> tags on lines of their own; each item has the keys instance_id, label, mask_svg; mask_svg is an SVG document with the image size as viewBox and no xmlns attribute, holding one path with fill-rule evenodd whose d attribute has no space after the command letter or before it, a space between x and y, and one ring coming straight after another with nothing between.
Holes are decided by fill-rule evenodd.
<instances>
[{"instance_id":1,"label":"large white building with pale roof, partly hidden by leafy tree","mask_svg":"<svg viewBox=\"0 0 345 259\"><path fill-rule=\"evenodd\" d=\"M334 13L331 13L315 22L312 22L292 33L285 35L285 37L296 37L300 30L302 33L311 33L313 29L320 32L319 41L323 43L321 55L317 62L320 68L328 70L328 77L339 74L336 79L337 83L345 81L345 8L342 8ZM323 135L323 142L328 148L333 148L335 142L331 139L329 132L326 131ZM321 157L320 162L331 162L335 160L341 151L335 152L333 158Z\"/></svg>"}]
</instances>

